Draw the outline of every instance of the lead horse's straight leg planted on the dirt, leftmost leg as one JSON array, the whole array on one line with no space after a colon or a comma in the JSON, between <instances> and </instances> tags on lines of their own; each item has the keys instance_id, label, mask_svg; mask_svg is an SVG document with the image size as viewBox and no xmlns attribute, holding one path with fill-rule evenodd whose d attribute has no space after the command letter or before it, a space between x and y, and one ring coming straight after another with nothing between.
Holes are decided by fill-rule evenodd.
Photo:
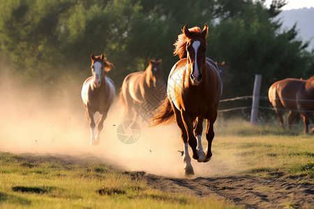
<instances>
[{"instance_id":1,"label":"lead horse's straight leg planted on the dirt, leftmost leg","mask_svg":"<svg viewBox=\"0 0 314 209\"><path fill-rule=\"evenodd\" d=\"M190 163L190 155L188 154L188 134L186 133L186 127L184 126L184 123L181 118L181 112L178 109L175 109L174 116L176 118L177 125L181 130L181 138L182 141L184 142L184 155L183 155L184 175L189 177L194 175L194 170L192 164Z\"/></svg>"}]
</instances>

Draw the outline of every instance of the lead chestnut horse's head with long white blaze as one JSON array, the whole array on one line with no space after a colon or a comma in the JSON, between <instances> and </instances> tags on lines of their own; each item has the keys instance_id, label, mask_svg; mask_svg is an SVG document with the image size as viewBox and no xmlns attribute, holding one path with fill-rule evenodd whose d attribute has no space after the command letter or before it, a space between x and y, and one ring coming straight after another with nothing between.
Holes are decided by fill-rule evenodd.
<instances>
[{"instance_id":1,"label":"lead chestnut horse's head with long white blaze","mask_svg":"<svg viewBox=\"0 0 314 209\"><path fill-rule=\"evenodd\" d=\"M187 38L186 58L188 60L188 69L190 70L190 80L193 85L198 85L202 82L206 68L205 52L207 49L208 26L205 24L202 32L200 32L198 27L189 30L186 26L184 26L182 31Z\"/></svg>"}]
</instances>

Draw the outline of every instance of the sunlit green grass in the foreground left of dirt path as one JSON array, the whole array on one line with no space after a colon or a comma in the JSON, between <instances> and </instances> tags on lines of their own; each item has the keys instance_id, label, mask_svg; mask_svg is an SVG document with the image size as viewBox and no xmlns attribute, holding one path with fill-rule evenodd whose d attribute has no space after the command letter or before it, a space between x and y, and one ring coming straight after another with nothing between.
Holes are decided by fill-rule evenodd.
<instances>
[{"instance_id":1,"label":"sunlit green grass in the foreground left of dirt path","mask_svg":"<svg viewBox=\"0 0 314 209\"><path fill-rule=\"evenodd\" d=\"M34 159L0 153L0 208L236 208L211 197L160 192L101 163Z\"/></svg>"}]
</instances>

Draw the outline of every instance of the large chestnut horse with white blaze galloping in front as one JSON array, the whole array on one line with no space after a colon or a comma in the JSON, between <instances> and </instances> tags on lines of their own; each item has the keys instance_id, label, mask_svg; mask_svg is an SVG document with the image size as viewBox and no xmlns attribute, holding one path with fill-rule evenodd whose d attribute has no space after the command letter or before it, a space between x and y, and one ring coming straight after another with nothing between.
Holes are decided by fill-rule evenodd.
<instances>
[{"instance_id":1,"label":"large chestnut horse with white blaze galloping in front","mask_svg":"<svg viewBox=\"0 0 314 209\"><path fill-rule=\"evenodd\" d=\"M180 60L174 64L167 83L167 98L154 116L154 125L177 122L184 141L184 170L186 176L194 174L188 145L192 148L193 158L197 162L208 162L211 159L211 142L214 139L214 123L220 99L220 77L217 65L207 59L208 26L184 29L178 36L174 55ZM202 119L207 119L207 149L202 148ZM195 134L193 122L195 123ZM195 138L195 135L197 139Z\"/></svg>"}]
</instances>

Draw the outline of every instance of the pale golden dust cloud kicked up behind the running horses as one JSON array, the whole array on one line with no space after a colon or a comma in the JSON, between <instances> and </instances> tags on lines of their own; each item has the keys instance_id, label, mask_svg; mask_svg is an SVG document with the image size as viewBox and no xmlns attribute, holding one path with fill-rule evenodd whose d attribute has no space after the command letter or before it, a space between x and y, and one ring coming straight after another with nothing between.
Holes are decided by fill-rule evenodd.
<instances>
[{"instance_id":1,"label":"pale golden dust cloud kicked up behind the running horses","mask_svg":"<svg viewBox=\"0 0 314 209\"><path fill-rule=\"evenodd\" d=\"M179 152L183 144L176 124L148 127L148 123L140 121L139 139L133 144L124 144L117 134L124 119L119 97L116 97L100 133L100 143L90 146L89 123L80 98L81 86L60 86L63 91L55 93L24 88L12 77L1 79L1 152L93 155L127 171L184 177L184 162ZM119 88L116 86L116 89ZM218 162L204 164L192 160L192 164L195 177L220 172Z\"/></svg>"}]
</instances>

